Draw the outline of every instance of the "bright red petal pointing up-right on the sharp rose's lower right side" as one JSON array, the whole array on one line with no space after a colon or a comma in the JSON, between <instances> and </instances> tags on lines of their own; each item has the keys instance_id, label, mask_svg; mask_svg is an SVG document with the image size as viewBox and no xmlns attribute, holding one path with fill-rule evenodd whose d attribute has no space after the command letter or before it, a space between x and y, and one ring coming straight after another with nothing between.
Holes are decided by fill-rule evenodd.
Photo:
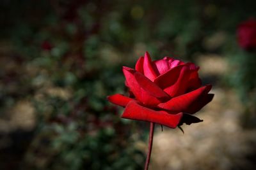
<instances>
[{"instance_id":1,"label":"bright red petal pointing up-right on the sharp rose's lower right side","mask_svg":"<svg viewBox=\"0 0 256 170\"><path fill-rule=\"evenodd\" d=\"M194 104L195 101L198 101L200 97L207 95L209 90L211 90L211 85L205 85L204 87L196 89L187 94L174 97L173 99L170 99L170 101L166 103L160 103L158 104L158 106L159 108L163 108L165 110L169 110L174 113L177 113L180 111L186 112L186 113L193 113L193 111L196 110L196 108L198 108L199 105L201 106L201 104L198 103L198 106L191 106L191 104ZM189 110L189 108L191 110Z\"/></svg>"}]
</instances>

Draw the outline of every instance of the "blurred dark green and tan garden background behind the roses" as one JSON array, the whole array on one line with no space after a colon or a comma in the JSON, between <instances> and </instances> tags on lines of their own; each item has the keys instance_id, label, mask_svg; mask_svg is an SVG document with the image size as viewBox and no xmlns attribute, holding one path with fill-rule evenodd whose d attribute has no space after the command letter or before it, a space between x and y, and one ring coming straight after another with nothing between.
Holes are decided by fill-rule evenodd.
<instances>
[{"instance_id":1,"label":"blurred dark green and tan garden background behind the roses","mask_svg":"<svg viewBox=\"0 0 256 170\"><path fill-rule=\"evenodd\" d=\"M256 167L255 1L0 1L0 169L143 169L149 124L120 118L122 66L146 51L200 66L200 124L155 129L150 169Z\"/></svg>"}]
</instances>

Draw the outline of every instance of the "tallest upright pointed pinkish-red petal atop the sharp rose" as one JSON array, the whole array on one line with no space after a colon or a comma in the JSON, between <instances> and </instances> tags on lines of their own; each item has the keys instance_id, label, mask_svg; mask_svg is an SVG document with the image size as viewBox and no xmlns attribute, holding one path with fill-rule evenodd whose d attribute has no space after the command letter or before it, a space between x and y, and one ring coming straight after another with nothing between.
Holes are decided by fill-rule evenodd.
<instances>
[{"instance_id":1,"label":"tallest upright pointed pinkish-red petal atop the sharp rose","mask_svg":"<svg viewBox=\"0 0 256 170\"><path fill-rule=\"evenodd\" d=\"M144 75L149 78L149 80L154 81L156 78L156 73L152 66L152 61L148 52L145 53L144 62L143 62Z\"/></svg>"}]
</instances>

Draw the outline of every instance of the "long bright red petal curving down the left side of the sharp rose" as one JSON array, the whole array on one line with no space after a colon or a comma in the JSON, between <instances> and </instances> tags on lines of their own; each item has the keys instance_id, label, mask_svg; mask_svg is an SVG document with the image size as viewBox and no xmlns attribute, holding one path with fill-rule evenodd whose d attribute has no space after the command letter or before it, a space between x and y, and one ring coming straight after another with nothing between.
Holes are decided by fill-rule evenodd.
<instances>
[{"instance_id":1,"label":"long bright red petal curving down the left side of the sharp rose","mask_svg":"<svg viewBox=\"0 0 256 170\"><path fill-rule=\"evenodd\" d=\"M127 86L130 88L132 94L134 94L138 101L147 106L157 106L157 104L161 103L161 101L157 99L157 97L152 96L140 86L140 84L134 77L134 73L136 73L134 69L131 69L129 67L123 67L123 72Z\"/></svg>"}]
</instances>

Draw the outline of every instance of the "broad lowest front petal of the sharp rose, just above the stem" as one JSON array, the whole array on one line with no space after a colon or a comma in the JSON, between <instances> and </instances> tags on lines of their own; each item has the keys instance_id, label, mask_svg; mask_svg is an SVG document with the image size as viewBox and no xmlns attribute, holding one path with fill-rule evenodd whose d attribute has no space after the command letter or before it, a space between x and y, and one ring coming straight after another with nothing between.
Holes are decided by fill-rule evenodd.
<instances>
[{"instance_id":1,"label":"broad lowest front petal of the sharp rose, just above the stem","mask_svg":"<svg viewBox=\"0 0 256 170\"><path fill-rule=\"evenodd\" d=\"M170 128L175 128L179 124L180 118L182 118L182 113L173 115L169 114L167 111L155 111L140 106L140 104L136 103L135 101L131 101L127 104L122 118L154 122L157 124L166 125Z\"/></svg>"}]
</instances>

